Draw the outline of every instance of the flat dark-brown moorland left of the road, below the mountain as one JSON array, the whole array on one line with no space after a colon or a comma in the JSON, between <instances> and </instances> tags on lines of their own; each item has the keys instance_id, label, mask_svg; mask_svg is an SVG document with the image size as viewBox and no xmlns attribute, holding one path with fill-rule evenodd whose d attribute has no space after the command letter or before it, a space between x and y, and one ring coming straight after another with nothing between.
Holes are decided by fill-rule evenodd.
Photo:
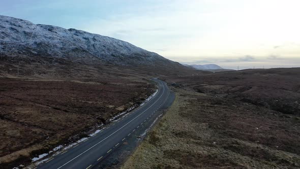
<instances>
[{"instance_id":1,"label":"flat dark-brown moorland left of the road, below the mountain","mask_svg":"<svg viewBox=\"0 0 300 169\"><path fill-rule=\"evenodd\" d=\"M153 92L142 78L0 78L0 168L72 143Z\"/></svg>"}]
</instances>

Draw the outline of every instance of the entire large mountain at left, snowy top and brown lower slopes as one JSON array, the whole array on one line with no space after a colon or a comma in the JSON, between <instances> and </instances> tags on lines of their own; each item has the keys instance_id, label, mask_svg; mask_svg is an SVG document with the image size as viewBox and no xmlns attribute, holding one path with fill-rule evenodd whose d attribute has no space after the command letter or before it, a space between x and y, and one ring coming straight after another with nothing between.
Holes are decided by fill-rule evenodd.
<instances>
[{"instance_id":1,"label":"entire large mountain at left, snowy top and brown lower slopes","mask_svg":"<svg viewBox=\"0 0 300 169\"><path fill-rule=\"evenodd\" d=\"M126 69L151 76L196 71L126 41L2 15L0 61L4 77L95 77Z\"/></svg>"}]
</instances>

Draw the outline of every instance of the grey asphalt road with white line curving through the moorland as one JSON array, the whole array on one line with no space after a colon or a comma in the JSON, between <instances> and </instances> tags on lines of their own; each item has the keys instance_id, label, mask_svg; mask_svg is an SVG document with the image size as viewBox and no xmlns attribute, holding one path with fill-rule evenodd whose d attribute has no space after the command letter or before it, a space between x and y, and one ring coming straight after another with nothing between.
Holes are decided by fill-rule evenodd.
<instances>
[{"instance_id":1,"label":"grey asphalt road with white line curving through the moorland","mask_svg":"<svg viewBox=\"0 0 300 169\"><path fill-rule=\"evenodd\" d=\"M170 91L165 82L159 79L154 80L159 85L155 97L84 142L53 158L49 158L48 161L38 165L37 168L92 168L101 163L101 160L126 142L130 134L134 134L140 125L143 123L151 124L149 121L154 119L151 117L155 116L170 98Z\"/></svg>"}]
</instances>

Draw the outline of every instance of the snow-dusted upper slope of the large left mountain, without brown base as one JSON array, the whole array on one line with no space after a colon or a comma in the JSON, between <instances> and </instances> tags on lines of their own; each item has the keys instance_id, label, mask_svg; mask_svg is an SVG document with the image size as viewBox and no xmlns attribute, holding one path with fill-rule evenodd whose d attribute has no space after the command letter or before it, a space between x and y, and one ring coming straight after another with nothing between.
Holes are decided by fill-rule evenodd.
<instances>
[{"instance_id":1,"label":"snow-dusted upper slope of the large left mountain, without brown base","mask_svg":"<svg viewBox=\"0 0 300 169\"><path fill-rule=\"evenodd\" d=\"M0 15L0 57L66 59L121 66L170 66L179 63L128 42L58 26Z\"/></svg>"}]
</instances>

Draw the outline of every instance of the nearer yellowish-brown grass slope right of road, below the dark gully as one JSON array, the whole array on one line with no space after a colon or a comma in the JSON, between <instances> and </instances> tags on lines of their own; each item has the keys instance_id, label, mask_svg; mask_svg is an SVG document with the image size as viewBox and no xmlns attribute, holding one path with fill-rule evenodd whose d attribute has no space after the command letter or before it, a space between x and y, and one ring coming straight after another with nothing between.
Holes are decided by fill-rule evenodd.
<instances>
[{"instance_id":1,"label":"nearer yellowish-brown grass slope right of road, below the dark gully","mask_svg":"<svg viewBox=\"0 0 300 169\"><path fill-rule=\"evenodd\" d=\"M176 89L173 105L122 168L298 168L300 122L279 115Z\"/></svg>"}]
</instances>

